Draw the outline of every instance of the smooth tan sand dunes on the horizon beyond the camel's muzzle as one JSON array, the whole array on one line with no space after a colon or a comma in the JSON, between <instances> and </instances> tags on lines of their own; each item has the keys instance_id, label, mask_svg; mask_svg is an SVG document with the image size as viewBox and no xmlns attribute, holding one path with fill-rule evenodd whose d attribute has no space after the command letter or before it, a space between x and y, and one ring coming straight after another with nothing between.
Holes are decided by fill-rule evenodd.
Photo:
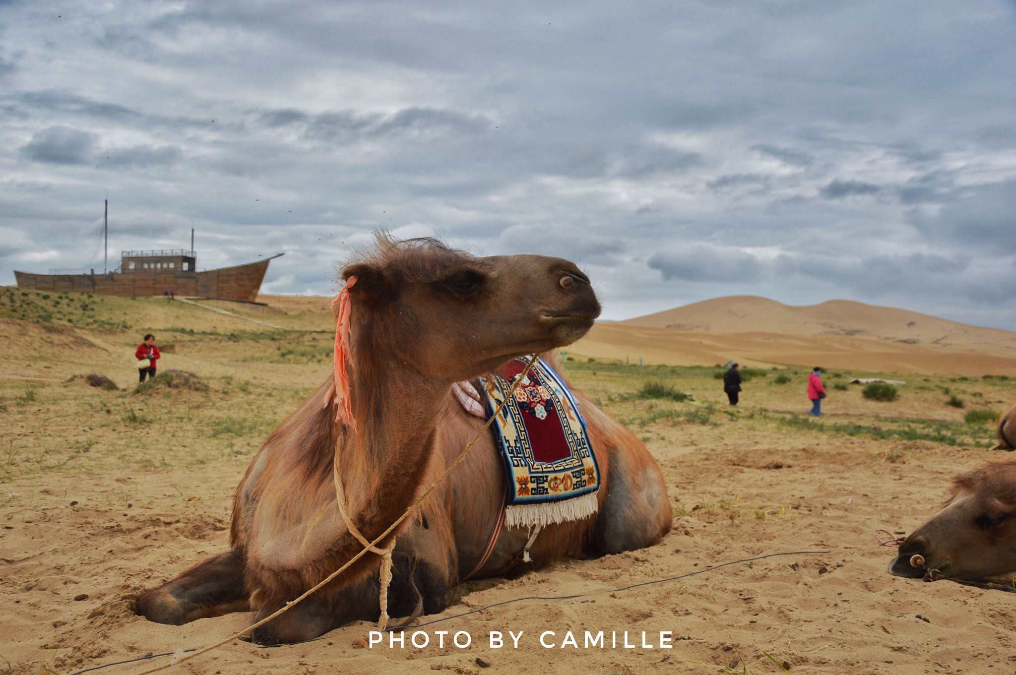
<instances>
[{"instance_id":1,"label":"smooth tan sand dunes on the horizon beyond the camel's muzzle","mask_svg":"<svg viewBox=\"0 0 1016 675\"><path fill-rule=\"evenodd\" d=\"M788 307L717 297L618 323L572 346L646 363L823 365L884 373L1016 375L1016 333L849 300Z\"/></svg>"}]
</instances>

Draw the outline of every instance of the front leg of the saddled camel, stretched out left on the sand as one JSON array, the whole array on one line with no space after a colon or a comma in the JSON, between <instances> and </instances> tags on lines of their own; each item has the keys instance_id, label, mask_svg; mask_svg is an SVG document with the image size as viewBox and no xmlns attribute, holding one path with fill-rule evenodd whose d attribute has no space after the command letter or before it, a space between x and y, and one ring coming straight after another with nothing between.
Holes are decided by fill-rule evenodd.
<instances>
[{"instance_id":1,"label":"front leg of the saddled camel, stretched out left on the sand","mask_svg":"<svg viewBox=\"0 0 1016 675\"><path fill-rule=\"evenodd\" d=\"M197 563L137 599L138 614L171 625L246 611L250 611L249 593L243 551L238 548Z\"/></svg>"}]
</instances>

